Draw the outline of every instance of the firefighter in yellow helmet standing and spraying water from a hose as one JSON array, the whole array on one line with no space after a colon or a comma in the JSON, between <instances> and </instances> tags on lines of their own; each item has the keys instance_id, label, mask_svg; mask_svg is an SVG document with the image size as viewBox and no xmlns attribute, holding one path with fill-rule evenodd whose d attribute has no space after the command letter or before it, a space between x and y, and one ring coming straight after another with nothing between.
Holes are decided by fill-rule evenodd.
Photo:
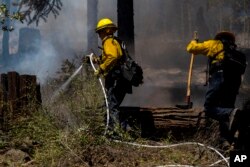
<instances>
[{"instance_id":1,"label":"firefighter in yellow helmet standing and spraying water from a hose","mask_svg":"<svg viewBox=\"0 0 250 167\"><path fill-rule=\"evenodd\" d=\"M108 18L101 19L95 29L102 40L102 55L94 57L94 61L99 63L95 75L105 78L110 110L108 134L113 135L112 137L118 135L116 129L119 127L119 106L126 93L132 93L132 85L121 73L120 60L123 51L117 37L114 36L116 30L117 26ZM121 122L121 127L125 130L126 123Z\"/></svg>"}]
</instances>

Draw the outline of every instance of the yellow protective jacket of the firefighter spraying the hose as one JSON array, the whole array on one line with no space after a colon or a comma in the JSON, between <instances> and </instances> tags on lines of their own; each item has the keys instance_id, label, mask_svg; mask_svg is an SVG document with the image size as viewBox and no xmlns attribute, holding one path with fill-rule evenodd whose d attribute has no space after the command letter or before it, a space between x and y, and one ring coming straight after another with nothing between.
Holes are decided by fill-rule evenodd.
<instances>
[{"instance_id":1,"label":"yellow protective jacket of the firefighter spraying the hose","mask_svg":"<svg viewBox=\"0 0 250 167\"><path fill-rule=\"evenodd\" d=\"M119 42L113 36L105 37L102 41L102 46L100 69L103 71L104 76L106 76L122 57L122 49Z\"/></svg>"}]
</instances>

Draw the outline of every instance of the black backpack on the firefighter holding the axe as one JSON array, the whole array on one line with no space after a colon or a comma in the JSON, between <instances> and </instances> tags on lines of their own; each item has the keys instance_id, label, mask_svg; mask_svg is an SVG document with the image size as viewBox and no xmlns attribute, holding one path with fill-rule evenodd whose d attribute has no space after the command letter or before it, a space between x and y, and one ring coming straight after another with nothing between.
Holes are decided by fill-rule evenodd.
<instances>
[{"instance_id":1,"label":"black backpack on the firefighter holding the axe","mask_svg":"<svg viewBox=\"0 0 250 167\"><path fill-rule=\"evenodd\" d=\"M224 73L229 75L243 75L246 71L247 60L246 55L237 50L235 47L224 44L224 60L223 70Z\"/></svg>"}]
</instances>

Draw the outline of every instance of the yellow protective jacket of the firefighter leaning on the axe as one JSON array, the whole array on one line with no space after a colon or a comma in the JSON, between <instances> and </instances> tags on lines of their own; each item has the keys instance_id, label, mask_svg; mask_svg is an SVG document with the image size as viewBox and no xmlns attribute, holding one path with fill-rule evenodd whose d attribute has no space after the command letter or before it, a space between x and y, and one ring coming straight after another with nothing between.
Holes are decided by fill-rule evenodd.
<instances>
[{"instance_id":1,"label":"yellow protective jacket of the firefighter leaning on the axe","mask_svg":"<svg viewBox=\"0 0 250 167\"><path fill-rule=\"evenodd\" d=\"M203 54L209 58L212 58L212 64L220 62L224 59L223 44L219 40L208 40L202 43L192 40L187 45L187 51L195 55Z\"/></svg>"}]
</instances>

